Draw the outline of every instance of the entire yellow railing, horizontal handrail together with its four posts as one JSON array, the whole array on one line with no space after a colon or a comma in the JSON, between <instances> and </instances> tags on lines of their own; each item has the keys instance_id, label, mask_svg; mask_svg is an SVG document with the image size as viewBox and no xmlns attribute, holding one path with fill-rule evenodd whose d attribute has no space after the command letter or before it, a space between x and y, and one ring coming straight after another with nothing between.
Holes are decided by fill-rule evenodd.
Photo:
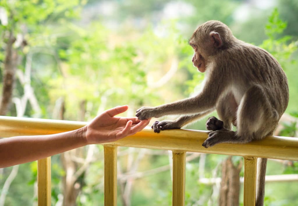
<instances>
[{"instance_id":1,"label":"entire yellow railing, horizontal handrail together with its four posts","mask_svg":"<svg viewBox=\"0 0 298 206\"><path fill-rule=\"evenodd\" d=\"M86 122L0 116L0 137L46 135L78 129ZM257 157L298 160L298 138L268 136L247 144L218 144L205 149L206 131L173 129L156 134L150 127L104 146L105 206L117 205L117 146L173 152L173 205L184 205L185 152L244 157L244 205L255 205ZM38 205L51 205L50 157L38 160Z\"/></svg>"}]
</instances>

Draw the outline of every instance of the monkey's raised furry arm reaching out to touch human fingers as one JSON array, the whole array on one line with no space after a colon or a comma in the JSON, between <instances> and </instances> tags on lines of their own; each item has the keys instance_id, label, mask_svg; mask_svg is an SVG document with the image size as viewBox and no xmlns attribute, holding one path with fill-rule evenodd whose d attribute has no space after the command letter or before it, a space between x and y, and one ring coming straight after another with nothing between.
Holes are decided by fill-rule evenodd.
<instances>
[{"instance_id":1,"label":"monkey's raised furry arm reaching out to touch human fingers","mask_svg":"<svg viewBox=\"0 0 298 206\"><path fill-rule=\"evenodd\" d=\"M226 88L225 85L221 85L218 82L227 82L227 80L221 81L222 76L219 75L220 72L216 73L218 75L210 75L203 90L197 96L170 104L163 104L158 107L142 107L136 111L136 116L143 120L165 115L197 114L211 110L215 107L219 96Z\"/></svg>"}]
</instances>

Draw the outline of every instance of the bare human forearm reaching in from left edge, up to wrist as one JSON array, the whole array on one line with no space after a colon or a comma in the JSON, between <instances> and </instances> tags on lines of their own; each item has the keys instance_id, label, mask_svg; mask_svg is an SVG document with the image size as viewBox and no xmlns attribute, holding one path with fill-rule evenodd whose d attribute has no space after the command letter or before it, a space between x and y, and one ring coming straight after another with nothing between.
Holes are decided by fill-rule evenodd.
<instances>
[{"instance_id":1,"label":"bare human forearm reaching in from left edge, up to wrist","mask_svg":"<svg viewBox=\"0 0 298 206\"><path fill-rule=\"evenodd\" d=\"M0 168L43 159L86 144L86 127L52 135L1 139Z\"/></svg>"}]
</instances>

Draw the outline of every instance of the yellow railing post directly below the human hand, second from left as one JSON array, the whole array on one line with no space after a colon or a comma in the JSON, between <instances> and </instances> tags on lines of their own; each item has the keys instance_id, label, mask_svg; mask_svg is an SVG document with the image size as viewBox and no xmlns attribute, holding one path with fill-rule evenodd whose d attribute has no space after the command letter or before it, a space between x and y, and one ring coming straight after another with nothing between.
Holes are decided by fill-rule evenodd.
<instances>
[{"instance_id":1,"label":"yellow railing post directly below the human hand, second from left","mask_svg":"<svg viewBox=\"0 0 298 206\"><path fill-rule=\"evenodd\" d=\"M105 162L105 206L117 205L117 146L103 146Z\"/></svg>"}]
</instances>

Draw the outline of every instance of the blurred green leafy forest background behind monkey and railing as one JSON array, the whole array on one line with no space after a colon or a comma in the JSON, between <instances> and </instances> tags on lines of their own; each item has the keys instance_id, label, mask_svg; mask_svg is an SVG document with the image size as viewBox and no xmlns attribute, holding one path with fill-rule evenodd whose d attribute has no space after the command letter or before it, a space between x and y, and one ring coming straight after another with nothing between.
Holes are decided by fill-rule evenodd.
<instances>
[{"instance_id":1,"label":"blurred green leafy forest background behind monkey and railing","mask_svg":"<svg viewBox=\"0 0 298 206\"><path fill-rule=\"evenodd\" d=\"M275 135L296 137L296 0L1 0L0 115L89 121L117 105L134 116L141 106L192 96L204 74L192 65L188 38L208 20L277 58L290 102ZM204 130L205 122L187 128ZM186 160L187 206L223 203L229 182L237 188L243 177L242 157ZM118 148L118 205L171 205L171 162L168 151ZM218 179L227 174L236 178ZM296 176L285 182L285 174ZM295 161L268 160L267 175L276 176L265 205L298 205L297 174ZM0 206L37 205L36 177L36 162L0 169ZM234 193L243 205L243 183ZM52 205L103 205L102 146L52 157Z\"/></svg>"}]
</instances>

